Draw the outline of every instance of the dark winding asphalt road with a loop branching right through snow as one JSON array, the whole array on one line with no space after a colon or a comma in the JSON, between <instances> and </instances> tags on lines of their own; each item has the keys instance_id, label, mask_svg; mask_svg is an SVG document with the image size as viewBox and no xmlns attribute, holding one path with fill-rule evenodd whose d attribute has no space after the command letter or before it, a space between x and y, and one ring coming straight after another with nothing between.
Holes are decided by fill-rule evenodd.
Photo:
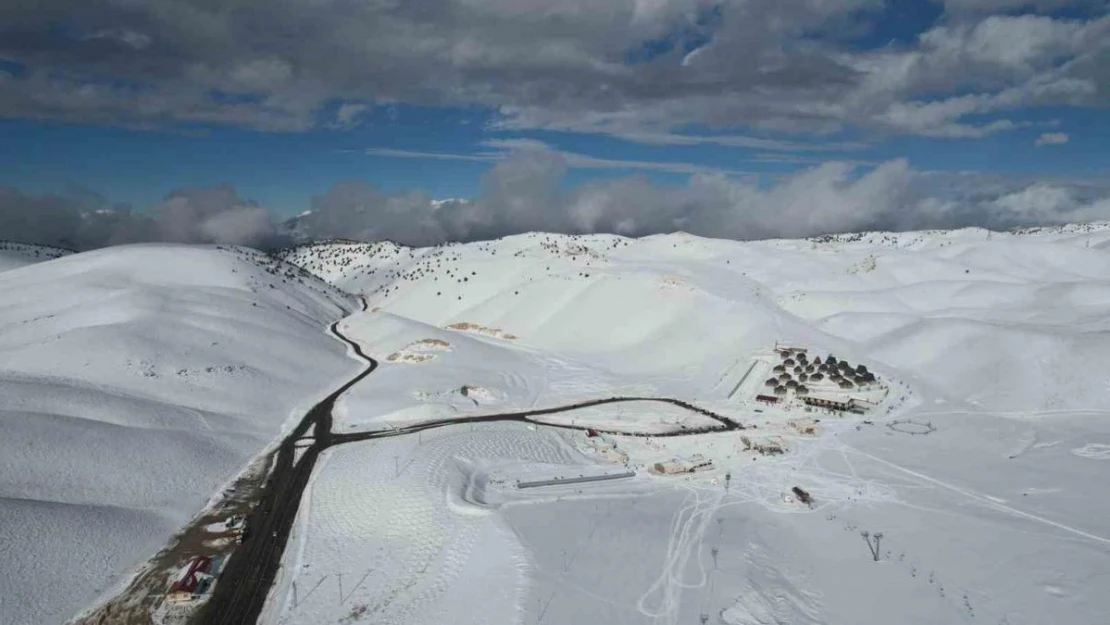
<instances>
[{"instance_id":1,"label":"dark winding asphalt road with a loop branching right through snow","mask_svg":"<svg viewBox=\"0 0 1110 625\"><path fill-rule=\"evenodd\" d=\"M363 312L366 311L365 298L362 299L362 310ZM404 427L373 432L335 434L332 432L332 409L335 406L335 400L373 373L379 364L376 360L362 351L359 343L343 335L339 330L339 325L340 321L332 323L329 326L329 331L336 339L350 345L354 353L366 363L366 366L323 401L314 405L304 415L304 419L301 420L293 432L282 441L278 448L273 471L262 488L259 503L248 516L246 524L250 528L250 537L229 557L223 571L220 573L220 581L213 589L212 597L198 613L196 617L192 619L194 624L242 625L258 622L259 615L262 613L262 607L265 604L266 595L269 595L274 577L278 575L278 569L281 566L282 554L285 551L285 544L289 542L293 523L296 521L296 513L301 506L301 497L309 483L309 477L312 475L320 453L331 446L387 436L414 434L425 430L463 423L517 421L551 427L585 431L589 427L585 425L545 423L533 417L622 402L667 403L708 416L717 421L720 425L715 427L684 429L666 433L618 432L596 427L593 430L625 436L660 437L744 429L736 421L682 400L670 397L606 397L547 409L427 421ZM309 436L310 429L313 429L311 436ZM309 446L302 446L303 455L296 458L296 444L304 440L311 440L312 443Z\"/></svg>"}]
</instances>

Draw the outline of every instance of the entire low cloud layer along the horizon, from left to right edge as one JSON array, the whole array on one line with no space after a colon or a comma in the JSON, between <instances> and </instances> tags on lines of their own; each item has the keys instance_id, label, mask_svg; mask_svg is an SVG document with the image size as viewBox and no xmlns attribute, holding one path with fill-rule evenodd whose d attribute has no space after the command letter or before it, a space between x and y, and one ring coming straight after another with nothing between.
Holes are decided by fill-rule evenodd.
<instances>
[{"instance_id":1,"label":"entire low cloud layer along the horizon, from left to right edge","mask_svg":"<svg viewBox=\"0 0 1110 625\"><path fill-rule=\"evenodd\" d=\"M670 187L633 175L565 190L567 167L561 152L514 151L470 201L341 182L314 196L292 229L226 184L176 190L142 212L80 190L30 195L0 187L0 239L79 250L148 241L270 248L331 238L424 246L529 231L748 240L1110 220L1110 187L924 172L905 160L874 168L830 161L771 181L704 173Z\"/></svg>"}]
</instances>

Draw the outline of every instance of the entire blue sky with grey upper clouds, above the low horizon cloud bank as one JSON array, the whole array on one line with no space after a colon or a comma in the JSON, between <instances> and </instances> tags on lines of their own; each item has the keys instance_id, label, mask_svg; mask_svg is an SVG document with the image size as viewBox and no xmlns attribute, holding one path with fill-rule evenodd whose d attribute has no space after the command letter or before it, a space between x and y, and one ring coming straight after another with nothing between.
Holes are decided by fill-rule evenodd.
<instances>
[{"instance_id":1,"label":"entire blue sky with grey upper clouds, above the low horizon cloud bank","mask_svg":"<svg viewBox=\"0 0 1110 625\"><path fill-rule=\"evenodd\" d=\"M579 195L1110 173L1101 0L92 4L0 26L0 184L147 210L226 183L282 219L343 181L481 199L535 152Z\"/></svg>"}]
</instances>

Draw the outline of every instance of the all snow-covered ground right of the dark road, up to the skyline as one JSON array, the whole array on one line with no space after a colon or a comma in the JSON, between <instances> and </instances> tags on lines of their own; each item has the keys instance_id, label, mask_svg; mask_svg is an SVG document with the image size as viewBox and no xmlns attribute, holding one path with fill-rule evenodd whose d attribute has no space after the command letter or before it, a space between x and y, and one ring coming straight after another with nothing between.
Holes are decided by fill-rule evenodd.
<instances>
[{"instance_id":1,"label":"all snow-covered ground right of the dark road, up to the skyline","mask_svg":"<svg viewBox=\"0 0 1110 625\"><path fill-rule=\"evenodd\" d=\"M608 435L635 477L528 490L620 458L518 423L336 447L265 622L1101 623L1108 251L1102 224L292 250L370 300L344 326L383 362L340 431L618 395L755 429ZM776 343L866 365L877 405L755 402ZM617 406L558 416L668 416ZM713 466L646 471L696 456Z\"/></svg>"}]
</instances>

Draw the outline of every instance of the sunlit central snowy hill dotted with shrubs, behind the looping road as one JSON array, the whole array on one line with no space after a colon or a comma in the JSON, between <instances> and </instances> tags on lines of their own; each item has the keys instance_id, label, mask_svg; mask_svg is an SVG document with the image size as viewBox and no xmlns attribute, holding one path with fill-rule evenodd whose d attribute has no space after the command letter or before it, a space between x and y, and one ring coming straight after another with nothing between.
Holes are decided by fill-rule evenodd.
<instances>
[{"instance_id":1,"label":"sunlit central snowy hill dotted with shrubs, behind the looping road","mask_svg":"<svg viewBox=\"0 0 1110 625\"><path fill-rule=\"evenodd\" d=\"M799 340L811 334L760 299L758 284L725 271L722 259L653 256L653 246L669 250L667 241L524 234L400 249L372 269L353 258L327 266L331 280L369 294L371 306L438 327L502 329L518 336L514 344L585 355L615 374L689 380L690 372L769 346L779 330ZM703 331L705 323L736 319L744 323L712 336Z\"/></svg>"}]
</instances>

